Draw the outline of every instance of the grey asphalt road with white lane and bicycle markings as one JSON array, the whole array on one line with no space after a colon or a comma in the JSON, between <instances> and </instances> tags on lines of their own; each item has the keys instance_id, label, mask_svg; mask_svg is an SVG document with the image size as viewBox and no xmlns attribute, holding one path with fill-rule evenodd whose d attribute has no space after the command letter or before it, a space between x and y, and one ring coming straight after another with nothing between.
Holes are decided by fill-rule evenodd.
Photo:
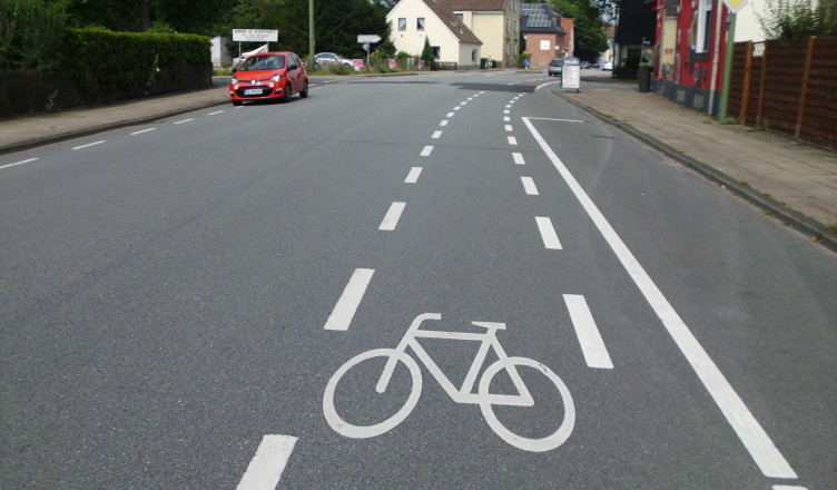
<instances>
[{"instance_id":1,"label":"grey asphalt road with white lane and bicycle markings","mask_svg":"<svg viewBox=\"0 0 837 490\"><path fill-rule=\"evenodd\" d=\"M0 157L0 488L836 488L837 256L554 81Z\"/></svg>"}]
</instances>

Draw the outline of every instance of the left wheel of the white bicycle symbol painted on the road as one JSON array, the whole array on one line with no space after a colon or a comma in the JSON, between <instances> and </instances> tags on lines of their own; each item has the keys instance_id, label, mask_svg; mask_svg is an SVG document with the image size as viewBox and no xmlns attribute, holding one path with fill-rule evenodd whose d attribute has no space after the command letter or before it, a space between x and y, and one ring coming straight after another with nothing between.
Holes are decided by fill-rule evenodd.
<instances>
[{"instance_id":1,"label":"left wheel of the white bicycle symbol painted on the road","mask_svg":"<svg viewBox=\"0 0 837 490\"><path fill-rule=\"evenodd\" d=\"M394 415L384 420L383 422L372 425L354 425L339 416L337 410L334 408L334 392L337 389L337 383L355 365L373 357L395 357L396 361L403 362L410 370L410 376L412 378L412 386L410 390L410 396L407 396L404 406L401 408ZM415 404L418 403L418 398L422 394L422 372L418 369L418 364L415 363L413 357L404 352L396 351L395 349L373 349L346 361L337 372L328 380L328 384L325 386L325 393L323 394L323 413L325 420L328 422L335 432L353 439L365 439L381 435L384 432L393 429L395 425L404 421L413 411Z\"/></svg>"}]
</instances>

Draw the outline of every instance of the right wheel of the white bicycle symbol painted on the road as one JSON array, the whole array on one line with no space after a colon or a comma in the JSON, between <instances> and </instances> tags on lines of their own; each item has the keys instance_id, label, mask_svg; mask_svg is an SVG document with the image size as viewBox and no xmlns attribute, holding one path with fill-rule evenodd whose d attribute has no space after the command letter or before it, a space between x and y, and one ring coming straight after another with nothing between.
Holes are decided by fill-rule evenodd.
<instances>
[{"instance_id":1,"label":"right wheel of the white bicycle symbol painted on the road","mask_svg":"<svg viewBox=\"0 0 837 490\"><path fill-rule=\"evenodd\" d=\"M491 429L494 430L498 435L500 435L505 442L518 449L532 452L545 452L555 449L559 445L563 444L572 433L572 429L575 425L575 405L572 402L570 390L567 388L564 382L561 381L560 378L558 378L558 374L552 372L552 370L529 357L501 359L491 364L483 373L482 379L480 379L479 393L484 400L489 400L489 386L491 385L491 380L494 378L494 375L501 370L510 370L510 367L514 369L513 366L519 365L533 367L535 371L545 375L555 385L555 388L558 388L558 391L561 394L561 401L564 405L564 418L561 422L561 425L559 425L555 432L546 435L545 438L529 439L522 438L506 429L505 425L500 422L500 419L498 419L498 416L494 414L494 409L490 401L480 402L482 414L485 418L485 421L489 423L489 427L491 427Z\"/></svg>"}]
</instances>

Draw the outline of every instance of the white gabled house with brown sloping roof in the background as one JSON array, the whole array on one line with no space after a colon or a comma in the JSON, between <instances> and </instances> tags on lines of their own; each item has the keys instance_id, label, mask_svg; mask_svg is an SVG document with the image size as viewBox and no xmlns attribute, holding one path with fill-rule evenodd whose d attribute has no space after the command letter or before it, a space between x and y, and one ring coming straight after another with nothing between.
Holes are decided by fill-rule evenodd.
<instances>
[{"instance_id":1,"label":"white gabled house with brown sloping roof in the background","mask_svg":"<svg viewBox=\"0 0 837 490\"><path fill-rule=\"evenodd\" d=\"M482 41L454 16L443 0L401 0L386 21L392 27L395 49L416 58L429 39L437 61L455 62L460 68L480 66Z\"/></svg>"}]
</instances>

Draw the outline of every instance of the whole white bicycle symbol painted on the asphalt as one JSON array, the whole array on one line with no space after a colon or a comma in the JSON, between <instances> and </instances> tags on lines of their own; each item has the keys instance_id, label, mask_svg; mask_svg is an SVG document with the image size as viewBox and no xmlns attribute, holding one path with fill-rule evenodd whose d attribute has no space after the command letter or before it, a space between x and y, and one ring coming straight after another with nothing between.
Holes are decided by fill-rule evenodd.
<instances>
[{"instance_id":1,"label":"whole white bicycle symbol painted on the asphalt","mask_svg":"<svg viewBox=\"0 0 837 490\"><path fill-rule=\"evenodd\" d=\"M538 361L529 357L508 356L505 351L503 351L503 347L500 345L500 341L496 339L496 331L504 330L504 323L472 322L473 325L485 329L485 333L459 333L418 329L421 323L425 320L441 318L442 315L439 313L424 313L418 315L413 320L413 324L410 325L406 334L404 334L404 339L401 340L396 349L373 349L346 361L346 363L343 364L334 375L332 375L332 379L328 380L328 384L325 388L325 394L323 395L323 413L325 414L328 425L331 425L337 433L347 438L365 439L381 435L403 422L415 408L422 392L421 370L413 357L406 354L406 349L408 346L454 402L479 404L485 421L505 442L515 448L533 452L550 451L563 444L570 437L573 425L575 424L575 408L572 402L572 395L563 381L561 381L561 379L549 367ZM447 339L481 342L476 357L474 357L461 389L456 390L450 379L422 347L417 339ZM485 370L480 379L477 392L473 393L473 385L476 382L476 376L479 375L483 363L485 362L489 347L494 349L499 360ZM337 414L337 411L334 408L334 392L337 388L337 383L339 383L341 379L343 379L348 370L361 362L373 357L388 357L386 365L384 366L384 372L381 374L381 379L375 385L375 391L378 393L386 391L386 388L390 384L390 379L395 370L395 364L398 361L403 362L410 371L413 380L412 389L404 406L391 418L372 425L353 425ZM532 406L534 404L534 400L529 393L529 389L526 389L523 380L518 374L516 366L519 365L533 367L545 375L558 388L558 391L561 394L561 401L564 406L563 421L555 432L545 438L528 439L520 437L508 430L494 414L493 405ZM492 394L489 392L491 380L502 370L508 372L518 394Z\"/></svg>"}]
</instances>

